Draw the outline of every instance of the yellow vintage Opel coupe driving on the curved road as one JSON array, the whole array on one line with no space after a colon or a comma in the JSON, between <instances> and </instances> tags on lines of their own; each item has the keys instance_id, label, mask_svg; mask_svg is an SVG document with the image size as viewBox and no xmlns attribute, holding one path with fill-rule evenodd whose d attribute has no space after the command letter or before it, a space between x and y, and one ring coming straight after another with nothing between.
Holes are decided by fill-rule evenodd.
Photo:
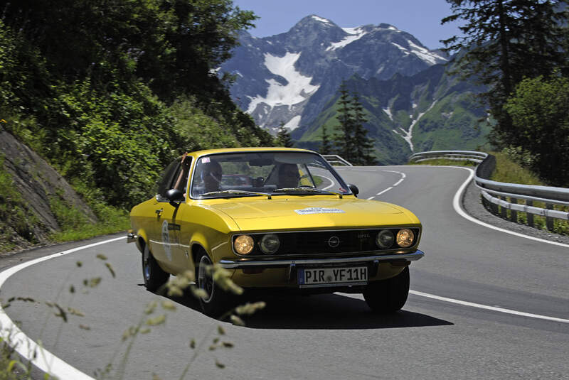
<instances>
[{"instance_id":1,"label":"yellow vintage Opel coupe driving on the curved road","mask_svg":"<svg viewBox=\"0 0 569 380\"><path fill-rule=\"evenodd\" d=\"M363 293L372 310L405 304L421 223L390 203L361 200L319 154L295 148L186 153L164 170L156 195L130 217L144 284L196 273L203 312L234 296L205 268L219 264L245 289L268 294Z\"/></svg>"}]
</instances>

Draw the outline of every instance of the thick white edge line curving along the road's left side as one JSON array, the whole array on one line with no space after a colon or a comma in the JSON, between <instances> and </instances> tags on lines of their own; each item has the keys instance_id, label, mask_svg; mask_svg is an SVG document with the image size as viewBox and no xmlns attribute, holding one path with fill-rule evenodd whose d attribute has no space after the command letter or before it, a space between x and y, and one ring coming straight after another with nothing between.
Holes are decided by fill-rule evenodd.
<instances>
[{"instance_id":1,"label":"thick white edge line curving along the road's left side","mask_svg":"<svg viewBox=\"0 0 569 380\"><path fill-rule=\"evenodd\" d=\"M54 259L55 257L65 256L66 254L71 254L81 249L91 248L93 246L98 246L101 244L107 244L112 241L117 241L125 239L124 237L117 237L114 239L109 239L105 241L99 241L98 243L88 244L86 246L78 246L73 249L68 249L67 251L59 252L57 254L52 254L49 256L43 256L35 260L26 261L25 263L11 266L5 271L0 272L0 288L6 280L12 276L14 273L21 271L23 268L32 266L34 264L41 263L49 259ZM41 369L41 371L55 376L58 379L70 379L70 380L95 380L91 376L84 374L70 364L63 362L54 354L49 352L47 349L41 347L40 344L31 340L26 334L24 334L10 319L6 314L4 309L0 305L0 337L7 342L10 347L16 349L16 352L20 354L24 359L32 362L36 367Z\"/></svg>"}]
</instances>

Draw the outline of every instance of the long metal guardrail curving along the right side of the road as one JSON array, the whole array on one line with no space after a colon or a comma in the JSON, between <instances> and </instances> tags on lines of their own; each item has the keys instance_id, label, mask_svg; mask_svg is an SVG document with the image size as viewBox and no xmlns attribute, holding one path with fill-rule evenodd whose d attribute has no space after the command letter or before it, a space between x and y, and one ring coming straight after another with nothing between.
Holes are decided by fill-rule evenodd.
<instances>
[{"instance_id":1,"label":"long metal guardrail curving along the right side of the road","mask_svg":"<svg viewBox=\"0 0 569 380\"><path fill-rule=\"evenodd\" d=\"M474 183L480 189L483 200L487 202L492 212L506 217L506 210L511 210L510 219L517 222L516 212L526 212L528 224L533 227L533 215L546 217L546 226L553 229L553 219L569 220L569 212L553 210L553 205L569 206L569 189L551 186L519 185L489 180L496 159L484 152L477 151L427 151L415 153L409 161L420 162L435 158L452 160L468 160L479 163L474 175ZM509 202L507 201L509 198ZM525 200L525 205L519 205L518 200ZM533 207L533 202L544 202L546 208ZM499 209L499 207L501 207Z\"/></svg>"}]
</instances>

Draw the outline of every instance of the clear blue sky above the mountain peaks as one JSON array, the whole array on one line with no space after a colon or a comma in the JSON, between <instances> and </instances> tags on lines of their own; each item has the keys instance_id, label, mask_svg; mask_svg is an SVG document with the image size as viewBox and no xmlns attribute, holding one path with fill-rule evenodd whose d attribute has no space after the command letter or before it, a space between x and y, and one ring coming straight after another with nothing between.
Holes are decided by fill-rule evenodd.
<instances>
[{"instance_id":1,"label":"clear blue sky above the mountain peaks","mask_svg":"<svg viewBox=\"0 0 569 380\"><path fill-rule=\"evenodd\" d=\"M260 16L257 28L249 31L255 37L284 33L309 14L342 28L389 23L430 49L442 47L439 40L460 33L457 23L440 25L451 14L445 0L233 0L233 4Z\"/></svg>"}]
</instances>

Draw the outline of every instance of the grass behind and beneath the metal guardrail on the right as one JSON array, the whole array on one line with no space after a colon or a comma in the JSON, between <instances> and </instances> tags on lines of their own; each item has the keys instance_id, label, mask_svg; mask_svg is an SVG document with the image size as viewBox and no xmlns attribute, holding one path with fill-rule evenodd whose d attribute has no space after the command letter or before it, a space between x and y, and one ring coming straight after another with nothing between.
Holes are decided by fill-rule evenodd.
<instances>
[{"instance_id":1,"label":"grass behind and beneath the metal guardrail on the right","mask_svg":"<svg viewBox=\"0 0 569 380\"><path fill-rule=\"evenodd\" d=\"M547 186L547 183L543 183L535 173L531 170L524 168L519 163L512 160L506 153L503 152L490 152L491 155L496 157L496 168L494 173L491 175L491 180L504 183L517 183L521 185L542 185ZM454 161L448 159L435 159L422 161L420 163L414 163L413 165L449 165L449 166L475 166L477 163L471 161ZM512 202L511 198L507 199L508 202ZM518 200L519 204L526 204L525 200ZM529 204L528 204L529 205ZM533 207L547 208L544 202L533 202ZM497 215L502 215L502 207L498 207ZM569 212L569 207L563 205L553 205L553 210L560 210ZM513 219L511 210L504 210L506 219ZM528 214L526 212L516 213L516 222L519 224L530 224L528 220ZM537 229L547 229L546 217L541 217L539 215L533 215L533 227ZM557 234L569 235L569 222L563 219L553 219L553 228L551 232Z\"/></svg>"}]
</instances>

